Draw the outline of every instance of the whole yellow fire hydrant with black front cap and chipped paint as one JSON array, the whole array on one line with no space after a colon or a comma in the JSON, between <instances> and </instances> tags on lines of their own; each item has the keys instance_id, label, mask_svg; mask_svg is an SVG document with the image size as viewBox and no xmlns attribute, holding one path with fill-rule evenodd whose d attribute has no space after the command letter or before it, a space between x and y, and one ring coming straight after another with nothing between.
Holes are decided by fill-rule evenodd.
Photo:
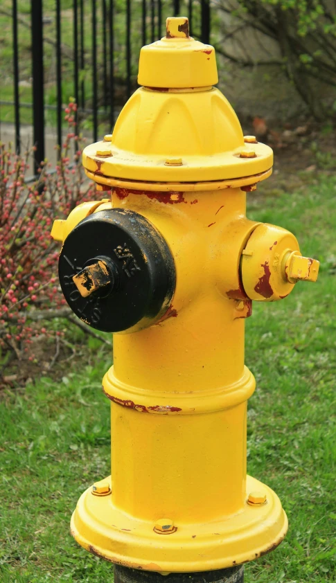
<instances>
[{"instance_id":1,"label":"whole yellow fire hydrant with black front cap and chipped paint","mask_svg":"<svg viewBox=\"0 0 336 583\"><path fill-rule=\"evenodd\" d=\"M315 281L319 262L285 229L245 216L272 150L242 135L217 82L213 47L169 18L166 37L141 49L142 87L113 134L83 153L111 199L52 231L73 312L114 332L103 379L112 475L82 494L71 532L118 565L118 582L196 582L200 571L242 582L242 563L288 528L278 496L247 476L245 318L252 300Z\"/></svg>"}]
</instances>

